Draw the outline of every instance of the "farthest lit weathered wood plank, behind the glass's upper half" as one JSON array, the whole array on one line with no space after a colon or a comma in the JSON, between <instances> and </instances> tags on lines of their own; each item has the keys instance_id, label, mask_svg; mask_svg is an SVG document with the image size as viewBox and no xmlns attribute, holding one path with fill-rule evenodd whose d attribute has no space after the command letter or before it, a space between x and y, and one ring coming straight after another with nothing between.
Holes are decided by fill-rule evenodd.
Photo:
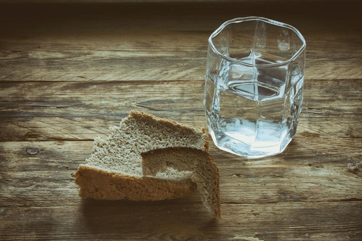
<instances>
[{"instance_id":1,"label":"farthest lit weathered wood plank, behind the glass's upper half","mask_svg":"<svg viewBox=\"0 0 362 241\"><path fill-rule=\"evenodd\" d=\"M308 46L306 78L362 76L361 31L302 32ZM0 37L0 80L205 79L210 34L211 31L9 34Z\"/></svg>"}]
</instances>

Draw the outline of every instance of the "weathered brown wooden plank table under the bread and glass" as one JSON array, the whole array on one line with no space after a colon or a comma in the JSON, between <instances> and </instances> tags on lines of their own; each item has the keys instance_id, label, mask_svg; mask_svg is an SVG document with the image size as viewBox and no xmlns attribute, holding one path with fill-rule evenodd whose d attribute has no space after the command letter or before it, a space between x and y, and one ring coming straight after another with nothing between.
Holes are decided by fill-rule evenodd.
<instances>
[{"instance_id":1,"label":"weathered brown wooden plank table under the bread and glass","mask_svg":"<svg viewBox=\"0 0 362 241\"><path fill-rule=\"evenodd\" d=\"M357 2L0 9L1 240L362 240L362 167L348 166L362 159ZM253 15L305 36L303 110L277 156L243 159L210 139L222 220L210 218L198 193L157 202L78 197L71 174L131 109L206 125L207 38L224 21Z\"/></svg>"}]
</instances>

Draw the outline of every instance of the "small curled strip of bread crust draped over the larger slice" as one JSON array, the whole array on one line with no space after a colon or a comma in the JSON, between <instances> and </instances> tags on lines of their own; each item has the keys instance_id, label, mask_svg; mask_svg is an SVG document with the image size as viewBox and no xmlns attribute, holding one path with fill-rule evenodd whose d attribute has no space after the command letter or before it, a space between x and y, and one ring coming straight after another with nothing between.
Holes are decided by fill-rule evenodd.
<instances>
[{"instance_id":1,"label":"small curled strip of bread crust draped over the larger slice","mask_svg":"<svg viewBox=\"0 0 362 241\"><path fill-rule=\"evenodd\" d=\"M141 155L144 175L167 172L169 167L180 172L190 171L203 204L214 218L221 219L219 168L207 152L190 147L168 147Z\"/></svg>"}]
</instances>

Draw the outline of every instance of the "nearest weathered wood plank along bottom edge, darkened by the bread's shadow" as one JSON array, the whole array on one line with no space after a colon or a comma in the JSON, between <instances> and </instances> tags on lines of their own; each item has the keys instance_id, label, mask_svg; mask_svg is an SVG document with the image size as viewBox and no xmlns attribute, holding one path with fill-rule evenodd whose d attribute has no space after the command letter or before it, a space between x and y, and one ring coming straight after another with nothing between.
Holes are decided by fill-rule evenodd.
<instances>
[{"instance_id":1,"label":"nearest weathered wood plank along bottom edge, darkened by the bread's shadow","mask_svg":"<svg viewBox=\"0 0 362 241\"><path fill-rule=\"evenodd\" d=\"M362 202L223 204L221 220L198 205L1 208L2 240L360 241ZM31 220L31 222L29 222Z\"/></svg>"}]
</instances>

